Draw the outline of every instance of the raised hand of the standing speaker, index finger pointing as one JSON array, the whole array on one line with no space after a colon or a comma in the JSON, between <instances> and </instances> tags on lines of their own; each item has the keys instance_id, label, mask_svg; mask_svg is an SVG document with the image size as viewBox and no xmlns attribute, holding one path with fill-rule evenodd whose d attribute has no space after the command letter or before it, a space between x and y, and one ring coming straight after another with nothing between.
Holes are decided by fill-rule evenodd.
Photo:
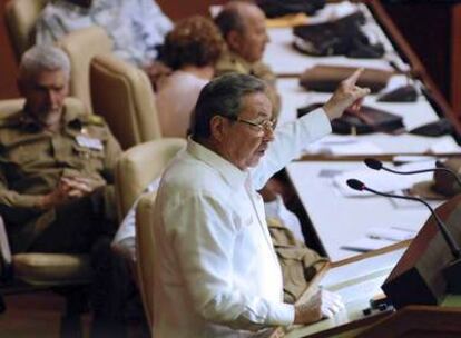
<instances>
[{"instance_id":1,"label":"raised hand of the standing speaker, index finger pointing","mask_svg":"<svg viewBox=\"0 0 461 338\"><path fill-rule=\"evenodd\" d=\"M363 68L357 69L352 76L343 80L330 100L323 106L330 120L340 118L347 108L359 111L363 98L370 93L369 88L355 86L362 72Z\"/></svg>"}]
</instances>

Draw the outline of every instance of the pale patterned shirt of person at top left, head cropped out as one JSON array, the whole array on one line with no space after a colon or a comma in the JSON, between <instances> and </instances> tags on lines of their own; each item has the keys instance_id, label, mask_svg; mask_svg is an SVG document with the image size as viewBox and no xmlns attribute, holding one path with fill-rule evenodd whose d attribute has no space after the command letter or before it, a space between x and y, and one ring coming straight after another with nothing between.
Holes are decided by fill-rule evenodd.
<instances>
[{"instance_id":1,"label":"pale patterned shirt of person at top left, head cropped out","mask_svg":"<svg viewBox=\"0 0 461 338\"><path fill-rule=\"evenodd\" d=\"M119 58L138 67L157 57L156 46L171 30L171 21L154 0L94 0L86 9L66 0L49 2L36 24L37 43L53 43L71 31L99 26Z\"/></svg>"}]
</instances>

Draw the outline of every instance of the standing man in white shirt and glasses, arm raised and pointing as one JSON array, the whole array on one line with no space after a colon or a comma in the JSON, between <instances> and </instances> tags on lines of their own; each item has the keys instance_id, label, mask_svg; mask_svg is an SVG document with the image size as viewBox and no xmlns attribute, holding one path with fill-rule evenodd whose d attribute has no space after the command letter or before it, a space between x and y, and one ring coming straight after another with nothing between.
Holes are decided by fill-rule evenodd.
<instances>
[{"instance_id":1,"label":"standing man in white shirt and glasses, arm raised and pointing","mask_svg":"<svg viewBox=\"0 0 461 338\"><path fill-rule=\"evenodd\" d=\"M281 268L256 192L332 119L369 93L342 82L321 109L274 132L266 86L228 74L202 90L187 148L166 168L155 203L154 336L265 337L342 307L322 292L283 302ZM357 107L355 107L357 108Z\"/></svg>"}]
</instances>

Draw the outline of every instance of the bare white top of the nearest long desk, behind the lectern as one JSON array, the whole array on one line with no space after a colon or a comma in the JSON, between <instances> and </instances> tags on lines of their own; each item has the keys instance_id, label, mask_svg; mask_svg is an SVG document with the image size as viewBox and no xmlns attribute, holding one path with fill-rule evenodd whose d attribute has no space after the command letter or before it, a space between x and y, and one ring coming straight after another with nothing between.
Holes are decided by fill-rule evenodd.
<instances>
[{"instance_id":1,"label":"bare white top of the nearest long desk, behind the lectern","mask_svg":"<svg viewBox=\"0 0 461 338\"><path fill-rule=\"evenodd\" d=\"M361 162L300 161L286 167L326 255L332 261L359 255L344 249L357 239L366 238L370 227L403 228L418 231L430 216L420 203L395 203L379 196L344 197L326 171L366 169ZM326 171L325 171L326 170ZM380 172L376 171L376 175ZM399 177L395 177L399 179ZM434 207L440 203L434 203Z\"/></svg>"}]
</instances>

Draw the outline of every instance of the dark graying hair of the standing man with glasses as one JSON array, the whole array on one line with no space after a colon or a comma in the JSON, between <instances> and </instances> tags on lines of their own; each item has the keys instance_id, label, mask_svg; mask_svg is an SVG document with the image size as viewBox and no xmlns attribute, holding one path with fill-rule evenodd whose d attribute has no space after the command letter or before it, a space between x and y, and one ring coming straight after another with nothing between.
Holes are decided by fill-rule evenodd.
<instances>
[{"instance_id":1,"label":"dark graying hair of the standing man with glasses","mask_svg":"<svg viewBox=\"0 0 461 338\"><path fill-rule=\"evenodd\" d=\"M266 92L264 81L247 74L230 73L214 79L202 89L190 121L192 137L199 141L209 138L209 123L215 116L235 119L242 111L242 99Z\"/></svg>"}]
</instances>

